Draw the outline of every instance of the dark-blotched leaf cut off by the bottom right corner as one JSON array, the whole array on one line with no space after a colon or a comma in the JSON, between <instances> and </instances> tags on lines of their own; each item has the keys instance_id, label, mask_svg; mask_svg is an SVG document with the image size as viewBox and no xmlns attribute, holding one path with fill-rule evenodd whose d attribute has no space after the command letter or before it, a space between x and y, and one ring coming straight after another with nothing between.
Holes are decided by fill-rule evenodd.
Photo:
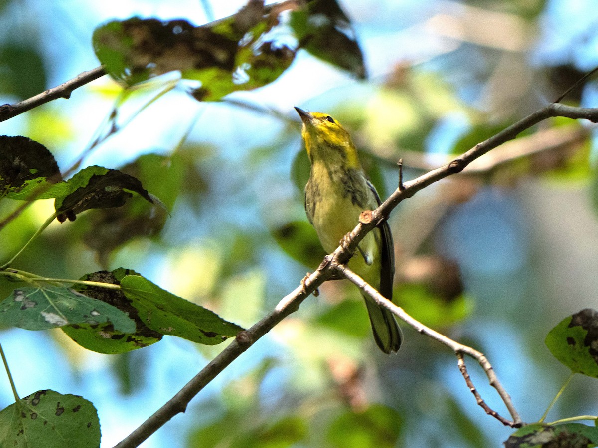
<instances>
[{"instance_id":1,"label":"dark-blotched leaf cut off by the bottom right corner","mask_svg":"<svg viewBox=\"0 0 598 448\"><path fill-rule=\"evenodd\" d=\"M598 428L581 423L547 426L539 423L517 429L505 448L586 448L598 446Z\"/></svg>"}]
</instances>

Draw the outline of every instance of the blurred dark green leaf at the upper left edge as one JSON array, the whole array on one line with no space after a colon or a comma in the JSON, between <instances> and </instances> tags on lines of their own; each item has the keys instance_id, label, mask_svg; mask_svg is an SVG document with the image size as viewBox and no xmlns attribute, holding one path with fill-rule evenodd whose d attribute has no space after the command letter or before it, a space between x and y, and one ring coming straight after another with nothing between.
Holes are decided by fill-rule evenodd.
<instances>
[{"instance_id":1,"label":"blurred dark green leaf at the upper left edge","mask_svg":"<svg viewBox=\"0 0 598 448\"><path fill-rule=\"evenodd\" d=\"M46 89L44 60L38 48L7 39L0 47L0 91L20 100Z\"/></svg>"}]
</instances>

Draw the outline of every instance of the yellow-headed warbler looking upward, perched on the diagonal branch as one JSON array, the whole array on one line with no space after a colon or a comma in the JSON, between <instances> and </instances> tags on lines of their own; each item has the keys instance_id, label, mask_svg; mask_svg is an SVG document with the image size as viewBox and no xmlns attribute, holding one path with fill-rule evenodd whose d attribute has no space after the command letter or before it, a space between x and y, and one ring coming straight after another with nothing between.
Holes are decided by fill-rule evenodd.
<instances>
[{"instance_id":1,"label":"yellow-headed warbler looking upward, perched on the diagonal branch","mask_svg":"<svg viewBox=\"0 0 598 448\"><path fill-rule=\"evenodd\" d=\"M316 229L324 250L331 253L355 228L362 211L374 210L380 205L380 197L365 176L351 136L340 123L326 113L295 109L303 121L301 136L312 163L305 187L307 218ZM348 266L392 300L395 262L386 221L361 240ZM371 297L363 296L376 343L387 354L398 351L402 334L395 317Z\"/></svg>"}]
</instances>

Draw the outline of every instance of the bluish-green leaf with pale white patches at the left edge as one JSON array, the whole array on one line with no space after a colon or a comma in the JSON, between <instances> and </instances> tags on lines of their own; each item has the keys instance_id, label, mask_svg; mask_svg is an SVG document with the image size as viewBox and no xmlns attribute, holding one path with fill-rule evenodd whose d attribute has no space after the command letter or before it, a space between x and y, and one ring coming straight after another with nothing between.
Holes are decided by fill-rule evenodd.
<instances>
[{"instance_id":1,"label":"bluish-green leaf with pale white patches at the left edge","mask_svg":"<svg viewBox=\"0 0 598 448\"><path fill-rule=\"evenodd\" d=\"M20 288L0 303L0 324L27 330L105 322L121 332L135 330L135 323L124 312L70 288Z\"/></svg>"}]
</instances>

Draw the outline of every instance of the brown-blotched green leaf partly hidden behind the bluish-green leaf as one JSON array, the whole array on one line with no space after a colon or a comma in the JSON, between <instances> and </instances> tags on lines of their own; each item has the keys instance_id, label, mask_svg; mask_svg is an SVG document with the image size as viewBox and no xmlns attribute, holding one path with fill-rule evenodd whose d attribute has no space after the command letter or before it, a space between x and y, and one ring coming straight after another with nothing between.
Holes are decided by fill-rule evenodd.
<instances>
[{"instance_id":1,"label":"brown-blotched green leaf partly hidden behind the bluish-green leaf","mask_svg":"<svg viewBox=\"0 0 598 448\"><path fill-rule=\"evenodd\" d=\"M118 285L126 275L138 274L130 269L118 268L112 272L93 272L84 275L80 280ZM131 300L127 299L123 291L87 285L78 285L76 289L86 294L86 296L115 306L135 321L135 328L127 331L115 329L110 322L103 324L84 323L62 327L62 331L82 347L98 353L118 354L147 347L162 339L161 333L147 327L139 318L137 309L132 305Z\"/></svg>"}]
</instances>

